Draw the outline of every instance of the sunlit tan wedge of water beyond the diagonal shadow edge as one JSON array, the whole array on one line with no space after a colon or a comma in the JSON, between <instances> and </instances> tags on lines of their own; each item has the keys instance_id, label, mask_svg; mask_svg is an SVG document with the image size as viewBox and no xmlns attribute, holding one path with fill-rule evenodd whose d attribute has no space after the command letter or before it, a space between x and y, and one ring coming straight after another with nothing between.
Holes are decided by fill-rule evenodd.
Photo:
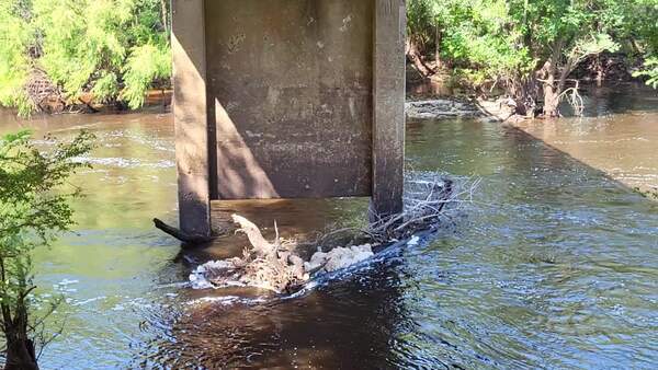
<instances>
[{"instance_id":1,"label":"sunlit tan wedge of water beyond the diagonal shadow edge","mask_svg":"<svg viewBox=\"0 0 658 370\"><path fill-rule=\"evenodd\" d=\"M583 118L518 127L628 187L658 189L658 94L647 89L624 84L594 90Z\"/></svg>"}]
</instances>

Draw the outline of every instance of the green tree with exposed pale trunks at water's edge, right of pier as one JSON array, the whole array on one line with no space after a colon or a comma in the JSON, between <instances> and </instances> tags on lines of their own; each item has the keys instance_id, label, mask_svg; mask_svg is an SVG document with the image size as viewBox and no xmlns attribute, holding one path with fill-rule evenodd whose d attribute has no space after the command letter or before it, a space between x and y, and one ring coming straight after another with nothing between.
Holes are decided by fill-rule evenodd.
<instances>
[{"instance_id":1,"label":"green tree with exposed pale trunks at water's edge, right of pier","mask_svg":"<svg viewBox=\"0 0 658 370\"><path fill-rule=\"evenodd\" d=\"M520 27L520 45L536 61L533 81L543 92L544 115L559 115L558 104L570 91L577 95L577 81L567 88L568 77L587 57L614 51L614 30L624 22L619 0L515 0L510 14ZM531 96L534 97L534 96ZM534 102L532 102L534 103ZM577 103L576 100L572 103ZM578 104L575 104L578 105Z\"/></svg>"}]
</instances>

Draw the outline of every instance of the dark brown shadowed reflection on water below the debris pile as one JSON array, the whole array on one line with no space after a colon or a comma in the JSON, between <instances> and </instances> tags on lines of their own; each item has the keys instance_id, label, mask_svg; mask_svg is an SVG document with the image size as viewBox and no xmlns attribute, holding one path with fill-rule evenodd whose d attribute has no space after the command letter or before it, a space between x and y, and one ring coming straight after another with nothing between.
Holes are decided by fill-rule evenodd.
<instances>
[{"instance_id":1,"label":"dark brown shadowed reflection on water below the debris pile","mask_svg":"<svg viewBox=\"0 0 658 370\"><path fill-rule=\"evenodd\" d=\"M303 299L194 300L152 361L172 368L385 368L394 358L382 355L392 352L392 335L407 323L398 285L388 265Z\"/></svg>"}]
</instances>

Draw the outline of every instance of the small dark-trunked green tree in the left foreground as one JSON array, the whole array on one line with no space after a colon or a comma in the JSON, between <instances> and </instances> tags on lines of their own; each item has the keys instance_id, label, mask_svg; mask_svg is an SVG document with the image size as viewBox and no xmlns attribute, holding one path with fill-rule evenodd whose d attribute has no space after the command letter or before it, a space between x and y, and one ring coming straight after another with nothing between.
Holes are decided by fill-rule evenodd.
<instances>
[{"instance_id":1,"label":"small dark-trunked green tree in the left foreground","mask_svg":"<svg viewBox=\"0 0 658 370\"><path fill-rule=\"evenodd\" d=\"M0 139L0 324L5 369L38 369L35 337L43 317L35 319L31 311L35 300L31 254L73 224L69 199L80 192L67 180L86 166L76 159L91 150L92 140L81 132L43 152L30 141L29 131Z\"/></svg>"}]
</instances>

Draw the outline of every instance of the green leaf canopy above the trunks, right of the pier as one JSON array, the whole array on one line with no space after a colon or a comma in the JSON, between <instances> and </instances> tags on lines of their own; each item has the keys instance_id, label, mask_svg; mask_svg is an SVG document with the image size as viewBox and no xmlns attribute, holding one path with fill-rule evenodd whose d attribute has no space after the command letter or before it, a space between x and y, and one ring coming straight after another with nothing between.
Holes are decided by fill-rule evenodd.
<instances>
[{"instance_id":1,"label":"green leaf canopy above the trunks, right of the pier","mask_svg":"<svg viewBox=\"0 0 658 370\"><path fill-rule=\"evenodd\" d=\"M658 0L410 0L408 32L477 82L568 70L629 44L658 46ZM434 28L439 27L439 32ZM559 72L559 71L558 71Z\"/></svg>"}]
</instances>

